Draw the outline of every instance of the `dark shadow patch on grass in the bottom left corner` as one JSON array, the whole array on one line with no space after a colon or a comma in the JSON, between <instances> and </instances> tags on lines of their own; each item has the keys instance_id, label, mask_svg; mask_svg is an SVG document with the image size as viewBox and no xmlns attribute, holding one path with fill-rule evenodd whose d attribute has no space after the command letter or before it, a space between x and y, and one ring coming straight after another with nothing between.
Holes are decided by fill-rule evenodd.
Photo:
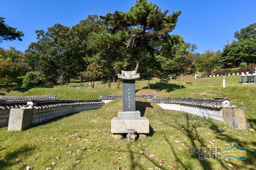
<instances>
[{"instance_id":1,"label":"dark shadow patch on grass in the bottom left corner","mask_svg":"<svg viewBox=\"0 0 256 170\"><path fill-rule=\"evenodd\" d=\"M4 162L0 163L0 170L4 170L6 168L10 168L10 166L16 164L15 158L24 157L26 158L28 155L31 154L36 149L36 147L30 146L23 146L13 152L9 152L8 154L4 155Z\"/></svg>"}]
</instances>

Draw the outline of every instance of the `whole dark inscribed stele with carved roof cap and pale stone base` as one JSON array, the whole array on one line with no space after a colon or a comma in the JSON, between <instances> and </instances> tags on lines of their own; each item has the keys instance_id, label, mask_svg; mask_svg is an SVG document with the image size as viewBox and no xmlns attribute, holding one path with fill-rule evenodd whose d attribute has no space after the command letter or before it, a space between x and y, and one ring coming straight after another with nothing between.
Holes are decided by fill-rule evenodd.
<instances>
[{"instance_id":1,"label":"whole dark inscribed stele with carved roof cap and pale stone base","mask_svg":"<svg viewBox=\"0 0 256 170\"><path fill-rule=\"evenodd\" d=\"M127 141L133 141L132 136L138 133L144 136L149 133L149 121L146 117L141 117L140 111L135 107L135 81L140 78L140 74L134 71L123 71L118 74L118 79L123 83L123 110L118 111L118 117L111 120L111 133L115 139L122 139L124 133L128 133ZM131 140L132 139L132 140Z\"/></svg>"}]
</instances>

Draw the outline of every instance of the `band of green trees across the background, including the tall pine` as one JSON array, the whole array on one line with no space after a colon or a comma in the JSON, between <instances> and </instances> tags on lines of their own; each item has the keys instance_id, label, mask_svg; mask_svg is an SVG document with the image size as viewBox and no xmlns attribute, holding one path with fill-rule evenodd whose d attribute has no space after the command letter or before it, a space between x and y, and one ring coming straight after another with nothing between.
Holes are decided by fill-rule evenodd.
<instances>
[{"instance_id":1,"label":"band of green trees across the background, including the tall pine","mask_svg":"<svg viewBox=\"0 0 256 170\"><path fill-rule=\"evenodd\" d=\"M195 44L171 35L180 14L137 0L128 12L89 15L72 27L56 23L46 31L36 30L37 41L24 53L14 47L0 48L0 84L64 84L71 78L116 82L121 70L136 70L142 78L168 82L170 76L256 62L255 23L237 31L238 40L226 45L223 52L200 54L195 53ZM12 28L9 37L8 31L0 33L1 40L22 40L21 31L0 19L0 24Z\"/></svg>"}]
</instances>

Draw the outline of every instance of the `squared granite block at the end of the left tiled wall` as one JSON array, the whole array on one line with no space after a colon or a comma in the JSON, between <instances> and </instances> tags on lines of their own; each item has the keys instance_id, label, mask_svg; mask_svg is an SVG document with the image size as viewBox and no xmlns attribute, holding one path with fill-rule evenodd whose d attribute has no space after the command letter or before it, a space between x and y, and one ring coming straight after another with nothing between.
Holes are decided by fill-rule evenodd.
<instances>
[{"instance_id":1,"label":"squared granite block at the end of the left tiled wall","mask_svg":"<svg viewBox=\"0 0 256 170\"><path fill-rule=\"evenodd\" d=\"M32 126L32 109L10 109L8 131L22 131Z\"/></svg>"}]
</instances>

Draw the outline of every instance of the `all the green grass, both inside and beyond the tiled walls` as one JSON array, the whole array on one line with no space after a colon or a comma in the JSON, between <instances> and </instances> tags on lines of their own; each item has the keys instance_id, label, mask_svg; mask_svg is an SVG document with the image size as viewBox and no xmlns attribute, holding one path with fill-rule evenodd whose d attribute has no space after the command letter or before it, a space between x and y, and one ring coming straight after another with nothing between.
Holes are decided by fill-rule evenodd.
<instances>
[{"instance_id":1,"label":"all the green grass, both inside and beyond the tiled walls","mask_svg":"<svg viewBox=\"0 0 256 170\"><path fill-rule=\"evenodd\" d=\"M246 108L247 120L256 123L256 85L242 85L240 76L226 76L226 88L222 89L222 77L184 78L182 89L178 80L162 84L159 80L136 82L136 94L156 94L158 98L227 97L235 106ZM93 89L87 83L71 83L64 86L44 86L9 90L0 88L2 95L35 96L57 95L60 99L96 99L100 94L121 95L122 89L112 84L97 82ZM156 104L138 99L136 107L145 113L150 126L155 129L145 141L126 143L116 141L110 135L110 120L122 108L116 100L101 109L83 111L68 117L38 125L21 132L7 132L0 128L0 169L19 169L23 164L34 169L256 169L256 133L235 131L223 123L211 121L180 111L163 110ZM77 140L76 134L81 136ZM246 160L199 160L198 154L189 154L189 148L230 147L233 142L245 147ZM214 144L214 145L213 145ZM150 159L145 154L154 154ZM58 159L56 159L58 157ZM127 158L126 158L127 157ZM1 160L1 158L4 158ZM18 158L19 161L15 161ZM118 159L119 158L119 159ZM122 158L122 159L121 159ZM161 163L159 159L164 159ZM17 160L17 159L16 159ZM80 160L75 165L75 161ZM112 162L116 160L117 164ZM56 165L52 165L55 162Z\"/></svg>"}]
</instances>

